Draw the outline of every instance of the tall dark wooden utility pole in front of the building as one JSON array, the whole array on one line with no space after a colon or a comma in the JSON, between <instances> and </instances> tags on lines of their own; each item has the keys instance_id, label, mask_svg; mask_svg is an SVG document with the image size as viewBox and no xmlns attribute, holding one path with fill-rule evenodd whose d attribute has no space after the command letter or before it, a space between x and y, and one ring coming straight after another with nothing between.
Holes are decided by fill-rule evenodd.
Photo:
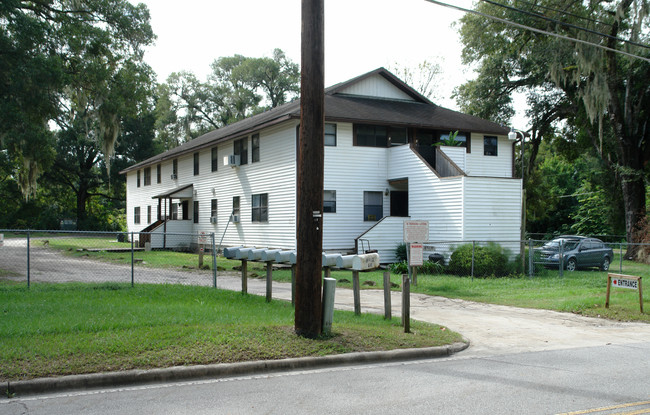
<instances>
[{"instance_id":1,"label":"tall dark wooden utility pole in front of the building","mask_svg":"<svg viewBox=\"0 0 650 415\"><path fill-rule=\"evenodd\" d=\"M295 329L310 338L321 334L323 312L324 26L324 0L302 0Z\"/></svg>"}]
</instances>

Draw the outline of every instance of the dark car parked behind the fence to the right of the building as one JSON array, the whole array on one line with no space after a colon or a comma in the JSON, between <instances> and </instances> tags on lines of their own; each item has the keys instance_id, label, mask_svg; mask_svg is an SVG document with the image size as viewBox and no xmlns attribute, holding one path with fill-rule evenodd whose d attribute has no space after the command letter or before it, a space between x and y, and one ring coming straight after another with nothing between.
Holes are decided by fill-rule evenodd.
<instances>
[{"instance_id":1,"label":"dark car parked behind the fence to the right of the building","mask_svg":"<svg viewBox=\"0 0 650 415\"><path fill-rule=\"evenodd\" d=\"M547 242L540 249L540 261L545 267L559 268L560 245L563 245L564 267L568 271L589 267L598 267L602 271L607 271L614 258L612 248L606 246L600 239L562 235Z\"/></svg>"}]
</instances>

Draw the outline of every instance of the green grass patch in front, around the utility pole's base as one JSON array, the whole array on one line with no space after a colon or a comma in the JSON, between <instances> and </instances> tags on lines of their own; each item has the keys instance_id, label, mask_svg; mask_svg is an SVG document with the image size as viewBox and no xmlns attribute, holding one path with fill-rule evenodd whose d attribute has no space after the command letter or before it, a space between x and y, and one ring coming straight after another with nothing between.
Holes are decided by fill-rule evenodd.
<instances>
[{"instance_id":1,"label":"green grass patch in front, around the utility pole's base","mask_svg":"<svg viewBox=\"0 0 650 415\"><path fill-rule=\"evenodd\" d=\"M450 344L460 336L399 319L335 313L331 336L293 333L282 301L177 285L0 282L0 380Z\"/></svg>"}]
</instances>

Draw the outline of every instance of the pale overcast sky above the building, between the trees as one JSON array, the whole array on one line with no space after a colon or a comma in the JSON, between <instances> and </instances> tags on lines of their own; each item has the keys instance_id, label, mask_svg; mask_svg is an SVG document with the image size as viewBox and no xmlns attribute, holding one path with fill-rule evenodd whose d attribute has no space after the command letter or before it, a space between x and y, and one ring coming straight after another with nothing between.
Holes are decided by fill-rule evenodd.
<instances>
[{"instance_id":1,"label":"pale overcast sky above the building, between the trees","mask_svg":"<svg viewBox=\"0 0 650 415\"><path fill-rule=\"evenodd\" d=\"M159 82L191 71L205 80L222 56L272 56L282 49L300 63L300 0L131 0L145 3L158 36L145 61ZM471 0L453 0L471 8ZM436 104L458 109L454 87L475 75L461 64L454 22L462 12L425 0L325 0L325 86L379 67L439 63Z\"/></svg>"}]
</instances>

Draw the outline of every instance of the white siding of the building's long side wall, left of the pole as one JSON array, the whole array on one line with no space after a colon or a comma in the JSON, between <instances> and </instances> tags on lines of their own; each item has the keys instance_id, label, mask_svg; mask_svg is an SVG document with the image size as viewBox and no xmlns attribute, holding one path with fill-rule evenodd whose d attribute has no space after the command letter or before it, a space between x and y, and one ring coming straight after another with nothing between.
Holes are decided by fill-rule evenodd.
<instances>
[{"instance_id":1,"label":"white siding of the building's long side wall, left of the pole","mask_svg":"<svg viewBox=\"0 0 650 415\"><path fill-rule=\"evenodd\" d=\"M151 186L136 187L136 172L127 174L127 223L129 231L140 231L147 226L146 205L156 212L157 199L152 196L174 188L192 184L199 202L199 223L192 222L193 203L189 201L189 221L186 232L215 232L218 239L226 229L232 211L232 199L240 197L240 223L230 223L224 237L224 245L245 244L250 246L294 248L296 245L296 152L295 123L285 123L260 132L260 161L251 163L252 146L248 137L248 164L237 168L224 166L223 157L233 154L233 141L218 146L220 165L211 171L211 148L201 150L198 176L194 176L193 154L178 159L178 180L171 180L172 162L163 162L162 183L155 178ZM155 172L155 165L152 166ZM153 173L152 172L152 173ZM155 174L152 174L155 177ZM251 202L254 194L268 194L269 220L251 222ZM217 224L210 223L211 200L217 199ZM141 206L140 225L133 223L133 207ZM144 209L142 208L144 207ZM155 215L155 213L152 213ZM152 218L155 219L155 218ZM181 221L179 221L181 222ZM180 231L180 230L178 230Z\"/></svg>"}]
</instances>

